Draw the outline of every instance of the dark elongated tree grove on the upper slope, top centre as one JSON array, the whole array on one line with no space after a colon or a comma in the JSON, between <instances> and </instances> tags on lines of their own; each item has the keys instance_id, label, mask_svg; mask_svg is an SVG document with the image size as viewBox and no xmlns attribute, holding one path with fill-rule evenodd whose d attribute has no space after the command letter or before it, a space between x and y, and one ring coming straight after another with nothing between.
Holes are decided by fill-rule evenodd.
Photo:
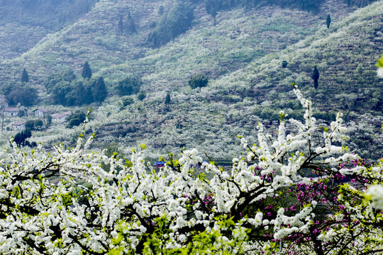
<instances>
[{"instance_id":1,"label":"dark elongated tree grove on the upper slope, top centre","mask_svg":"<svg viewBox=\"0 0 383 255\"><path fill-rule=\"evenodd\" d=\"M163 12L160 21L148 35L150 47L160 47L185 33L194 19L194 4L189 1L176 1L168 12ZM162 10L163 11L163 10Z\"/></svg>"}]
</instances>

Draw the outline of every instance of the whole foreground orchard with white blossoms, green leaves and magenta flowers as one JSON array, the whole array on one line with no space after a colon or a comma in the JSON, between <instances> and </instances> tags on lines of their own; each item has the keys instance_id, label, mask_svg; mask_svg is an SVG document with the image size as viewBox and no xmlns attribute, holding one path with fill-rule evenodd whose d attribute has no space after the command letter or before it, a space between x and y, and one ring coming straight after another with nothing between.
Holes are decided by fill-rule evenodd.
<instances>
[{"instance_id":1,"label":"whole foreground orchard with white blossoms, green leaves and magenta flowers","mask_svg":"<svg viewBox=\"0 0 383 255\"><path fill-rule=\"evenodd\" d=\"M157 170L145 164L145 146L123 161L89 152L83 135L54 152L13 146L1 157L0 253L383 251L383 162L348 152L341 114L318 127L311 101L294 93L304 122L281 113L277 135L260 124L256 145L240 137L247 154L231 171L203 163L196 149Z\"/></svg>"}]
</instances>

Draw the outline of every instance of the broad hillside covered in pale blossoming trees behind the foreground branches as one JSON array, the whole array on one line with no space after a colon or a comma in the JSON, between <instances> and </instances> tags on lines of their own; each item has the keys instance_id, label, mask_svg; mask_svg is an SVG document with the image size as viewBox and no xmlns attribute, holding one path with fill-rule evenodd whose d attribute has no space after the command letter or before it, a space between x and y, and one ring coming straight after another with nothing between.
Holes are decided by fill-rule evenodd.
<instances>
[{"instance_id":1,"label":"broad hillside covered in pale blossoming trees behind the foreground branches","mask_svg":"<svg viewBox=\"0 0 383 255\"><path fill-rule=\"evenodd\" d=\"M334 3L342 11L335 10ZM171 1L161 4L168 9ZM27 67L31 83L46 96L42 85L49 74L67 67L79 74L89 61L94 75L105 78L111 95L102 106L92 107L94 146L145 143L152 159L182 147L198 147L215 159L238 154L235 137L255 139L259 121L271 127L281 110L299 116L291 91L296 82L314 101L324 125L342 111L352 121L354 146L363 145L366 157L380 157L383 84L374 64L382 54L382 1L351 14L353 9L338 1L327 1L316 14L276 6L236 8L219 12L216 26L204 4L197 4L186 34L150 49L145 40L150 24L159 18L159 6L152 1L99 1L76 23L48 35L21 57L3 61L1 81L16 79ZM118 34L118 17L128 11L138 33ZM328 13L333 18L330 29ZM314 65L321 74L317 91L310 78ZM199 72L211 81L208 87L192 90L187 81ZM113 96L113 86L128 74L143 78L148 96L123 108L121 98ZM169 107L164 103L167 92ZM76 134L76 128L56 127L36 133L34 139L70 145L68 137Z\"/></svg>"}]
</instances>

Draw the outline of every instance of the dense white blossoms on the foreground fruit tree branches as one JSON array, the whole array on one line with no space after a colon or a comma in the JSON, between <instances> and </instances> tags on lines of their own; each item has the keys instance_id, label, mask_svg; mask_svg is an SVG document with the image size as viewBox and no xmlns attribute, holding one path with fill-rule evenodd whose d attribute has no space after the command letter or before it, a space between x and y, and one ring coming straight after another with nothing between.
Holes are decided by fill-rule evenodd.
<instances>
[{"instance_id":1,"label":"dense white blossoms on the foreground fruit tree branches","mask_svg":"<svg viewBox=\"0 0 383 255\"><path fill-rule=\"evenodd\" d=\"M289 184L311 183L299 174L307 166L323 162L337 166L356 158L332 145L343 139L341 115L323 132L323 141L313 146L318 127L311 102L298 89L294 91L306 108L305 123L289 120L296 132L287 135L282 121L277 137L258 125L257 145L249 147L242 138L248 155L233 159L230 171L202 163L196 149L184 150L178 160L153 169L145 164L143 152L133 152L126 164L89 152L91 139L84 141L82 136L75 148L57 146L51 153L40 146L28 154L14 146L13 153L1 157L0 253L106 254L113 249L142 253L145 241L150 241L147 237L154 238L163 226L167 234L162 234L162 242L169 249L184 246L196 232L219 231L220 240L245 242L245 224L255 229L273 225L274 239L307 233L315 217L315 201L292 216L285 215L283 208L272 218L265 208L257 208L255 215L246 212L267 198L277 198ZM196 165L201 169L196 171ZM351 171L360 174L363 169L355 166ZM374 166L370 174L379 177L381 171L381 166ZM376 208L383 206L378 199L381 189L367 191ZM227 227L217 220L223 215L234 222L226 236ZM247 247L259 249L271 245L246 242Z\"/></svg>"}]
</instances>

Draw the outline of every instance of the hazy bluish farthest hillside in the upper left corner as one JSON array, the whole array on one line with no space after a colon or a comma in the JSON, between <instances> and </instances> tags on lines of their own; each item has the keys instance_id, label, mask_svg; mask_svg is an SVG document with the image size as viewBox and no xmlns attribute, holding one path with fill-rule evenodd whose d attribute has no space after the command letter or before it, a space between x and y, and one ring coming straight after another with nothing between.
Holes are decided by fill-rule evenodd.
<instances>
[{"instance_id":1,"label":"hazy bluish farthest hillside in the upper left corner","mask_svg":"<svg viewBox=\"0 0 383 255\"><path fill-rule=\"evenodd\" d=\"M19 57L48 33L83 16L96 0L1 0L0 60Z\"/></svg>"}]
</instances>

